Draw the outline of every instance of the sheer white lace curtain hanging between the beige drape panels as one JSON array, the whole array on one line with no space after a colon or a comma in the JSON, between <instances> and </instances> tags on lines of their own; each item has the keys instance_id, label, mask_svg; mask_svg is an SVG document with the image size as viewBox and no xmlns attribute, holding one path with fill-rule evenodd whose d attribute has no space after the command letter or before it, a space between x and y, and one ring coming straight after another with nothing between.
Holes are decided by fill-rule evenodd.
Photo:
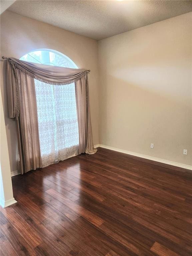
<instances>
[{"instance_id":1,"label":"sheer white lace curtain hanging between the beige drape panels","mask_svg":"<svg viewBox=\"0 0 192 256\"><path fill-rule=\"evenodd\" d=\"M75 84L50 85L35 79L42 167L79 154Z\"/></svg>"}]
</instances>

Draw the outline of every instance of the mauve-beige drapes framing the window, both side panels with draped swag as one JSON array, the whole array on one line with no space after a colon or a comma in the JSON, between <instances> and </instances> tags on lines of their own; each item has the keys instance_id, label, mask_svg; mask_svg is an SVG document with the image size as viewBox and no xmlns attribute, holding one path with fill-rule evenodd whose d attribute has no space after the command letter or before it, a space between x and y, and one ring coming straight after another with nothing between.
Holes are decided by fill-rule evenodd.
<instances>
[{"instance_id":1,"label":"mauve-beige drapes framing the window, both side panels with draped swag","mask_svg":"<svg viewBox=\"0 0 192 256\"><path fill-rule=\"evenodd\" d=\"M79 154L94 154L89 106L88 72L7 58L9 118L17 122L21 173L42 167L34 78L48 84L75 82L79 124Z\"/></svg>"}]
</instances>

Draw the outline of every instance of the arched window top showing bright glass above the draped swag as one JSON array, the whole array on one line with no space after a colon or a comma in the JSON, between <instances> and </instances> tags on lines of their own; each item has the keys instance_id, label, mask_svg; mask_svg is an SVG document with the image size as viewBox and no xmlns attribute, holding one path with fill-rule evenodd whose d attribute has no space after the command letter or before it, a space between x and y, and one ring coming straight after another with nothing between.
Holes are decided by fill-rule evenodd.
<instances>
[{"instance_id":1,"label":"arched window top showing bright glass above the draped swag","mask_svg":"<svg viewBox=\"0 0 192 256\"><path fill-rule=\"evenodd\" d=\"M69 57L51 49L37 49L28 52L20 60L65 68L78 68Z\"/></svg>"}]
</instances>

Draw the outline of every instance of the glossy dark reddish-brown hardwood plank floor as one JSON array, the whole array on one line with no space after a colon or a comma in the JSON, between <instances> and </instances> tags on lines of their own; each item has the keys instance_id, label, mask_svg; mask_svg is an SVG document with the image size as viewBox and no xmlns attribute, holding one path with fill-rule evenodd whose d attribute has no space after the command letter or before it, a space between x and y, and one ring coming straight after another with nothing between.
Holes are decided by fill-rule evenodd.
<instances>
[{"instance_id":1,"label":"glossy dark reddish-brown hardwood plank floor","mask_svg":"<svg viewBox=\"0 0 192 256\"><path fill-rule=\"evenodd\" d=\"M13 179L1 256L190 256L192 172L99 148Z\"/></svg>"}]
</instances>

